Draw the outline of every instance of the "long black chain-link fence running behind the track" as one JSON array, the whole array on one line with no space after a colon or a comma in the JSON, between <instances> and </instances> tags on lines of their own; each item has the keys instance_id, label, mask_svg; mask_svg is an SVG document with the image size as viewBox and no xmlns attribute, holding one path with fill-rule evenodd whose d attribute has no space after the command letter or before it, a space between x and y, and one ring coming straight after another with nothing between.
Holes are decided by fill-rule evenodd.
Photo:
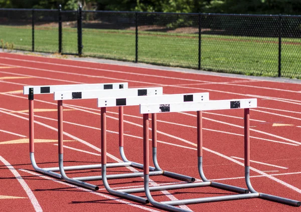
<instances>
[{"instance_id":1,"label":"long black chain-link fence running behind the track","mask_svg":"<svg viewBox=\"0 0 301 212\"><path fill-rule=\"evenodd\" d=\"M3 48L301 78L301 15L0 9L0 39Z\"/></svg>"}]
</instances>

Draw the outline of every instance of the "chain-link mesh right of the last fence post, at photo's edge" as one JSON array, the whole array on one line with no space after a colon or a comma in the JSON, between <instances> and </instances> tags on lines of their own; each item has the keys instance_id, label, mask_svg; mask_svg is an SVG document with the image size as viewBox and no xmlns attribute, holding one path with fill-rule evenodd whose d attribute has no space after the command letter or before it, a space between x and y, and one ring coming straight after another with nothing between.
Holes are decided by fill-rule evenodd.
<instances>
[{"instance_id":1,"label":"chain-link mesh right of the last fence post, at photo's edge","mask_svg":"<svg viewBox=\"0 0 301 212\"><path fill-rule=\"evenodd\" d=\"M301 16L283 16L281 24L281 75L301 78Z\"/></svg>"}]
</instances>

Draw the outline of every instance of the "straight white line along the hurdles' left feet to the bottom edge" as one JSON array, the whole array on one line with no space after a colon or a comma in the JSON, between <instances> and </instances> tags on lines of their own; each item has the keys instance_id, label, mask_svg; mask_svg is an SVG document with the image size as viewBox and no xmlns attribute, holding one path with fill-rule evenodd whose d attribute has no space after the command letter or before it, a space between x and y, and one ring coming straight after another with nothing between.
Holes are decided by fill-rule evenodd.
<instances>
[{"instance_id":1,"label":"straight white line along the hurdles' left feet to the bottom edge","mask_svg":"<svg viewBox=\"0 0 301 212\"><path fill-rule=\"evenodd\" d=\"M76 185L69 184L69 183L64 182L64 181L60 181L60 180L53 179L53 178L48 177L48 176L41 175L40 173L36 173L36 172L29 171L29 170L25 170L25 169L19 169L19 170L24 171L24 172L26 172L26 173L30 173L30 174L35 175L35 176L42 177L42 178L44 178L44 179L48 179L48 180L51 180L51 181L54 181L54 182L61 183L61 184L63 184L63 185L67 185L67 186L70 186L70 187L74 187L74 188L76 188L76 189L83 190L83 191L86 191L86 192L89 192L89 193L92 193L92 194L95 194L95 195L98 195L98 196L101 196L101 197L104 197L104 198L107 198L107 199L111 199L111 200L113 200L113 201L121 202L121 203L123 203L123 204L127 204L127 205L130 205L130 206L133 206L133 207L137 207L137 208L139 208L139 209L143 209L143 210L147 210L147 211L152 211L152 212L159 212L159 210L155 210L155 209L152 209L152 208L144 207L144 206L142 206L142 205L140 205L140 204L128 202L128 201L125 201L125 200L123 200L123 199L116 198L115 196L109 196L109 195L106 195L106 194L104 194L104 193L96 192L96 191L89 190L89 189L86 189L86 188L83 188L83 187L78 187L78 186L76 186Z\"/></svg>"}]
</instances>

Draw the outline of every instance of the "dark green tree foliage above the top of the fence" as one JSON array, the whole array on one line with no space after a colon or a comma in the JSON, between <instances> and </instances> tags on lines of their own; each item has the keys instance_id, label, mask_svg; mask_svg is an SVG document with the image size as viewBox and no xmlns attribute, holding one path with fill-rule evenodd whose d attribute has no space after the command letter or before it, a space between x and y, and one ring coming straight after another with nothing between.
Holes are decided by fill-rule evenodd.
<instances>
[{"instance_id":1,"label":"dark green tree foliage above the top of the fence","mask_svg":"<svg viewBox=\"0 0 301 212\"><path fill-rule=\"evenodd\" d=\"M300 0L0 0L3 8L58 8L157 12L301 14Z\"/></svg>"}]
</instances>

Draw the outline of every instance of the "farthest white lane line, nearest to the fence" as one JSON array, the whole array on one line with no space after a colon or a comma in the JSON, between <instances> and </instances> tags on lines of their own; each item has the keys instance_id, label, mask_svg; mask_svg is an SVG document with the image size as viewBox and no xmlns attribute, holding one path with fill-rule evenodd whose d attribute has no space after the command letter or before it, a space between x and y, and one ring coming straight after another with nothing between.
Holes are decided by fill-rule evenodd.
<instances>
[{"instance_id":1,"label":"farthest white lane line, nearest to the fence","mask_svg":"<svg viewBox=\"0 0 301 212\"><path fill-rule=\"evenodd\" d=\"M205 80L198 80L198 79L189 79L189 78L181 78L181 77L172 77L172 76L163 76L163 75L155 75L155 74L137 73L137 72L129 72L129 71L104 69L104 68L94 68L94 67L70 65L70 64L61 64L61 63L54 63L54 62L43 62L43 61L37 61L37 60L18 59L18 58L3 57L3 56L0 56L0 58L10 59L10 60L18 60L18 61L26 61L26 62L33 62L33 63L41 63L41 64L66 66L66 67L75 67L75 68L82 68L82 69L99 70L99 71L106 71L106 72L116 72L116 73L123 73L123 74L133 74L133 75L142 75L142 76L177 79L177 80L186 80L186 81L198 81L198 82L209 82L209 83L212 82L212 81L205 81ZM6 63L0 63L0 64L6 64ZM6 64L6 65L8 65L8 64ZM17 65L16 67L19 67L19 66ZM280 88L262 87L262 86L247 85L247 84L232 84L231 82L230 83L229 82L227 82L227 83L216 82L216 83L229 84L229 85L235 85L235 86L243 86L243 87L253 87L253 88L260 88L260 89L279 90L279 91L286 91L286 92L295 92L295 93L299 92L299 91L296 91L296 90L286 90L286 89L280 89Z\"/></svg>"}]
</instances>

